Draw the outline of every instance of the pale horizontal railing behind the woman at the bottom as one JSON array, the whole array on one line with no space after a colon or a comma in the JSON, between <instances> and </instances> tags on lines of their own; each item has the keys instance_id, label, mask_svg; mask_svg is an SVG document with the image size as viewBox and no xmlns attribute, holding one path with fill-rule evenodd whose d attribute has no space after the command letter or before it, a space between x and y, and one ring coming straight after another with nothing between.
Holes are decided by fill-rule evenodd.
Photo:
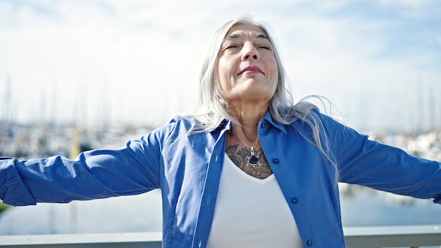
<instances>
[{"instance_id":1,"label":"pale horizontal railing behind the woman at the bottom","mask_svg":"<svg viewBox=\"0 0 441 248\"><path fill-rule=\"evenodd\" d=\"M441 247L441 225L344 228L347 248ZM0 236L1 248L160 248L161 233Z\"/></svg>"}]
</instances>

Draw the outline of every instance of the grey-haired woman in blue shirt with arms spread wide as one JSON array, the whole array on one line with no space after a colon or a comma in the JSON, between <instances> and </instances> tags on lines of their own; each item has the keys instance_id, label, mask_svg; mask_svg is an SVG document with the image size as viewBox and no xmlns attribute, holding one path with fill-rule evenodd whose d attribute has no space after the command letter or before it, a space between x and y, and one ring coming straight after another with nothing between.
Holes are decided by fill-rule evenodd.
<instances>
[{"instance_id":1,"label":"grey-haired woman in blue shirt with arms spread wide","mask_svg":"<svg viewBox=\"0 0 441 248\"><path fill-rule=\"evenodd\" d=\"M293 106L286 86L268 29L232 20L209 47L199 115L75 160L4 159L0 198L29 205L160 188L163 247L344 247L338 181L441 202L441 163Z\"/></svg>"}]
</instances>

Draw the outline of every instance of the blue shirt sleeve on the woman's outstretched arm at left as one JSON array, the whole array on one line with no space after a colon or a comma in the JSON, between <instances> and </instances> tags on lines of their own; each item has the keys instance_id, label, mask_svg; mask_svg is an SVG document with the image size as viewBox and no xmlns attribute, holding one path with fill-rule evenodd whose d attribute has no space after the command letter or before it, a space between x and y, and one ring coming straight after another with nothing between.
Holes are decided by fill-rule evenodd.
<instances>
[{"instance_id":1,"label":"blue shirt sleeve on the woman's outstretched arm at left","mask_svg":"<svg viewBox=\"0 0 441 248\"><path fill-rule=\"evenodd\" d=\"M161 149L173 123L119 149L82 152L75 159L2 158L0 199L13 206L66 203L141 194L161 187Z\"/></svg>"}]
</instances>

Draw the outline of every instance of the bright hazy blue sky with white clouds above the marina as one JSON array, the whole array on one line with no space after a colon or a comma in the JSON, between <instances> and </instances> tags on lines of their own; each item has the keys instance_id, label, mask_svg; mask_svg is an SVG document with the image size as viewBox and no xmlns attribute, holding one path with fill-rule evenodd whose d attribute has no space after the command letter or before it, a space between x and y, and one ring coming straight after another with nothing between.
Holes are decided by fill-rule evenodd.
<instances>
[{"instance_id":1,"label":"bright hazy blue sky with white clouds above the marina","mask_svg":"<svg viewBox=\"0 0 441 248\"><path fill-rule=\"evenodd\" d=\"M327 97L359 130L441 127L436 0L0 0L0 118L156 125L193 113L211 35L243 14L272 27L295 101Z\"/></svg>"}]
</instances>

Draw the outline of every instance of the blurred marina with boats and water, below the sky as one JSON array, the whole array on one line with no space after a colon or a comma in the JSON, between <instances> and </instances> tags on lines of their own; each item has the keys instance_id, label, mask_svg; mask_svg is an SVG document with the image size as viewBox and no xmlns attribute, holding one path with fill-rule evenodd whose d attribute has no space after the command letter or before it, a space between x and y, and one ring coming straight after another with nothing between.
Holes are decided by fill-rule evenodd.
<instances>
[{"instance_id":1,"label":"blurred marina with boats and water, below the sky","mask_svg":"<svg viewBox=\"0 0 441 248\"><path fill-rule=\"evenodd\" d=\"M0 156L29 159L117 148L151 128L2 123ZM441 161L441 130L378 132L370 137L410 154ZM441 206L430 199L402 197L358 185L339 186L344 226L441 224ZM154 190L131 197L9 207L0 213L0 235L161 231L161 217L161 192Z\"/></svg>"}]
</instances>

